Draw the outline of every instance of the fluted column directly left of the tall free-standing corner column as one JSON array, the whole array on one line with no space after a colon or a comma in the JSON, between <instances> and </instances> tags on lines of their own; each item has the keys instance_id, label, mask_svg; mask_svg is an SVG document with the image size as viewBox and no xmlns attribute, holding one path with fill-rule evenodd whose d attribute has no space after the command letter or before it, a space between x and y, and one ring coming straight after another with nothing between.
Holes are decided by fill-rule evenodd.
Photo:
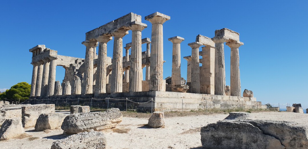
<instances>
[{"instance_id":1,"label":"fluted column directly left of the tall free-standing corner column","mask_svg":"<svg viewBox=\"0 0 308 149\"><path fill-rule=\"evenodd\" d=\"M131 68L129 73L129 91L142 91L142 48L141 31L147 27L141 22L134 22L129 28L132 30ZM138 24L137 24L138 23Z\"/></svg>"}]
</instances>

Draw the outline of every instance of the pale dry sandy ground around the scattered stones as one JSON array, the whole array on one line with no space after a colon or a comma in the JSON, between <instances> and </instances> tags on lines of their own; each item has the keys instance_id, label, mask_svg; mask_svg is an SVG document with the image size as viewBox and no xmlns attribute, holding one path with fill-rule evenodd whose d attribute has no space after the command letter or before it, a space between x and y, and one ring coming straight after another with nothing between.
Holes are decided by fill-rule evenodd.
<instances>
[{"instance_id":1,"label":"pale dry sandy ground around the scattered stones","mask_svg":"<svg viewBox=\"0 0 308 149\"><path fill-rule=\"evenodd\" d=\"M200 128L228 116L226 113L177 112L165 113L164 128L149 128L151 113L123 113L123 121L115 128L104 130L109 149L201 149ZM308 114L290 112L253 112L251 119L295 121L308 127ZM16 139L0 142L2 149L50 149L52 142L68 135L63 130L36 132L34 128Z\"/></svg>"}]
</instances>

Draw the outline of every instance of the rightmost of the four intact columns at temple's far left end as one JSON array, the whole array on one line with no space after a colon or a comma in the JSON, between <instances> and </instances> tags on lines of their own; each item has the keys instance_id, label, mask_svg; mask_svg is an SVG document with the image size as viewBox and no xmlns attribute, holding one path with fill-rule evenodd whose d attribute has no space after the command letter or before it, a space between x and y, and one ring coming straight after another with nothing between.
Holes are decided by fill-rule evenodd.
<instances>
[{"instance_id":1,"label":"rightmost of the four intact columns at temple's far left end","mask_svg":"<svg viewBox=\"0 0 308 149\"><path fill-rule=\"evenodd\" d=\"M52 96L55 93L55 81L56 81L56 57L48 57L50 59L49 62L49 77L48 77L48 96Z\"/></svg>"}]
</instances>

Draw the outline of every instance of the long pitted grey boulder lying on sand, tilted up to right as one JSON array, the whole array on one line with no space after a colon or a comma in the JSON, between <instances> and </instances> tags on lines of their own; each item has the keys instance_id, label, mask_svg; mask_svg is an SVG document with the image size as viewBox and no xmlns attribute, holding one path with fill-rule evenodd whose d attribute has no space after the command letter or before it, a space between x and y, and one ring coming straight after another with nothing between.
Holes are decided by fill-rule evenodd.
<instances>
[{"instance_id":1,"label":"long pitted grey boulder lying on sand, tilted up to right","mask_svg":"<svg viewBox=\"0 0 308 149\"><path fill-rule=\"evenodd\" d=\"M69 134L90 131L91 129L99 131L115 127L122 121L122 117L118 108L111 108L105 112L74 113L65 117L61 129Z\"/></svg>"}]
</instances>

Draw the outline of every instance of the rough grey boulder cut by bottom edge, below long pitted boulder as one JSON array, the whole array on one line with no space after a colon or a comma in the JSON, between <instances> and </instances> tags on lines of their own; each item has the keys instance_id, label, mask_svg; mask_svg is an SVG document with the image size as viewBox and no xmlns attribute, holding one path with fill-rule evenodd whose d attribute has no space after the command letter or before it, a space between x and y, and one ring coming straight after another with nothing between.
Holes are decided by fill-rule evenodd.
<instances>
[{"instance_id":1,"label":"rough grey boulder cut by bottom edge, below long pitted boulder","mask_svg":"<svg viewBox=\"0 0 308 149\"><path fill-rule=\"evenodd\" d=\"M51 149L105 149L106 138L102 132L81 132L52 143Z\"/></svg>"}]
</instances>

